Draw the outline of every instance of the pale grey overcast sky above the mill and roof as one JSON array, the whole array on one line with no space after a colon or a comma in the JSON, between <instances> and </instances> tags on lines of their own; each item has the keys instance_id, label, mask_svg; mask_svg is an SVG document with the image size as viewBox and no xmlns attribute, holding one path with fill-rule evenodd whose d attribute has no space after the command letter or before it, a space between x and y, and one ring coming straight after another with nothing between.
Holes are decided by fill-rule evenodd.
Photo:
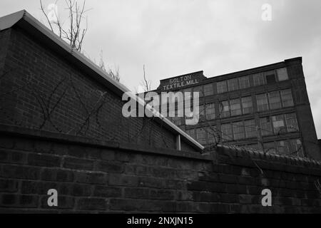
<instances>
[{"instance_id":1,"label":"pale grey overcast sky above the mill and roof","mask_svg":"<svg viewBox=\"0 0 321 228\"><path fill-rule=\"evenodd\" d=\"M56 0L43 0L47 7ZM263 21L263 4L272 21ZM58 1L58 15L65 4ZM302 56L307 93L321 138L320 0L87 0L86 56L119 67L121 83L136 90L146 75L159 80L193 71L207 77ZM1 0L0 16L26 9L45 22L38 0Z\"/></svg>"}]
</instances>

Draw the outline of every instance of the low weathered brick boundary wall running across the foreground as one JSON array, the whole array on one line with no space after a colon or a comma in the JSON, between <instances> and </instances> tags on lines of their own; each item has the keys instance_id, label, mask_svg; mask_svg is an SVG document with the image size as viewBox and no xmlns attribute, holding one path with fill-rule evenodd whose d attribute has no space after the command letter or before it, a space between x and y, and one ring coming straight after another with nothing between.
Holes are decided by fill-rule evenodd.
<instances>
[{"instance_id":1,"label":"low weathered brick boundary wall running across the foreground","mask_svg":"<svg viewBox=\"0 0 321 228\"><path fill-rule=\"evenodd\" d=\"M321 212L320 163L209 155L1 125L0 212ZM58 190L58 207L47 191ZM261 191L272 191L272 207Z\"/></svg>"}]
</instances>

